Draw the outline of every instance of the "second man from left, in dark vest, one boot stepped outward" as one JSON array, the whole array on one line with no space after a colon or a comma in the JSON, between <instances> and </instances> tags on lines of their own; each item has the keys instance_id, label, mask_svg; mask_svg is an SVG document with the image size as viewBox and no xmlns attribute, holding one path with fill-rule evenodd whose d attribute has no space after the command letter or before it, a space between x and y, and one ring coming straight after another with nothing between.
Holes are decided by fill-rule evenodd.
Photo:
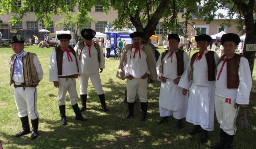
<instances>
[{"instance_id":1,"label":"second man from left, in dark vest, one boot stepped outward","mask_svg":"<svg viewBox=\"0 0 256 149\"><path fill-rule=\"evenodd\" d=\"M75 78L80 73L80 61L74 49L69 45L71 39L70 34L59 34L57 39L60 46L54 48L50 54L49 76L50 81L53 81L54 87L58 88L58 106L61 117L61 124L66 125L66 93L68 91L70 104L75 112L75 119L86 121L82 116L77 99Z\"/></svg>"}]
</instances>

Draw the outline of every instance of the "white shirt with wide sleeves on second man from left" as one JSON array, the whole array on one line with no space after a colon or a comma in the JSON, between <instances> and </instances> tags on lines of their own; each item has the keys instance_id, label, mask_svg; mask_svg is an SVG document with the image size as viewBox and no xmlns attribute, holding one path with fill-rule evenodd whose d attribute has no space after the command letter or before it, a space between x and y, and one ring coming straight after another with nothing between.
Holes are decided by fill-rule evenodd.
<instances>
[{"instance_id":1,"label":"white shirt with wide sleeves on second man from left","mask_svg":"<svg viewBox=\"0 0 256 149\"><path fill-rule=\"evenodd\" d=\"M80 61L77 59L78 63L78 70L76 67L76 61L75 56L72 54L72 52L69 52L72 61L68 61L67 52L63 53L63 60L62 60L62 75L58 75L58 67L57 67L57 59L56 59L56 50L53 49L50 54L50 63L49 63L49 77L50 81L58 81L58 76L66 76L66 75L73 75L73 74L80 74L81 71L80 68Z\"/></svg>"}]
</instances>

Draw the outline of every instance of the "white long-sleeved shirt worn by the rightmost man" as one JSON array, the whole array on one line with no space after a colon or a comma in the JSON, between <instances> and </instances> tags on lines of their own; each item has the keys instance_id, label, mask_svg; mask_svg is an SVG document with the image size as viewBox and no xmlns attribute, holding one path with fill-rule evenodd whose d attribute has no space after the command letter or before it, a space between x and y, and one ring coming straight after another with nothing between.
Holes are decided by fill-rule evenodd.
<instances>
[{"instance_id":1,"label":"white long-sleeved shirt worn by the rightmost man","mask_svg":"<svg viewBox=\"0 0 256 149\"><path fill-rule=\"evenodd\" d=\"M215 82L215 94L225 97L236 99L238 104L249 104L250 92L252 88L252 76L248 60L241 57L239 64L239 87L227 88L227 63L225 63L219 80L217 80L223 61L217 67L217 75Z\"/></svg>"}]
</instances>

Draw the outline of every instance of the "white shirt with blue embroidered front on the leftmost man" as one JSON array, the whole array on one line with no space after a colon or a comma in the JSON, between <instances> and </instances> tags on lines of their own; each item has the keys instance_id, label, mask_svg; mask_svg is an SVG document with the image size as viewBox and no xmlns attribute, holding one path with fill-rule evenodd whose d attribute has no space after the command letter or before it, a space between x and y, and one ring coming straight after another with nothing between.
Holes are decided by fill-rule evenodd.
<instances>
[{"instance_id":1,"label":"white shirt with blue embroidered front on the leftmost man","mask_svg":"<svg viewBox=\"0 0 256 149\"><path fill-rule=\"evenodd\" d=\"M27 52L23 51L23 54L22 54L23 56L22 57L24 57L26 54L27 54ZM21 61L19 63L20 63L21 68L22 68L22 59L21 59ZM38 60L38 58L36 56L33 57L33 63L34 63L34 66L35 66L35 71L36 71L37 76L38 76L38 80L42 80L42 78L43 78L43 71L42 71L41 64L40 64L40 62L39 62L39 60ZM10 65L10 59L9 59L9 65ZM21 69L20 72L16 73L16 74L13 73L12 79L15 82L15 84L24 83L23 70Z\"/></svg>"}]
</instances>

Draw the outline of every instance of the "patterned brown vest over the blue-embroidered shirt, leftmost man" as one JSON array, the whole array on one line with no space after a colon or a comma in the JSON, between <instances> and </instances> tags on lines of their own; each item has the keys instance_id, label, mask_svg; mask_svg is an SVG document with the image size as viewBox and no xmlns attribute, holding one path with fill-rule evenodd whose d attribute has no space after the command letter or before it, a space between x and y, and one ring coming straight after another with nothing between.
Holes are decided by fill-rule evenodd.
<instances>
[{"instance_id":1,"label":"patterned brown vest over the blue-embroidered shirt, leftmost man","mask_svg":"<svg viewBox=\"0 0 256 149\"><path fill-rule=\"evenodd\" d=\"M36 57L36 54L27 52L25 56L22 57L22 66L23 66L23 76L24 76L24 85L36 87L40 80L38 80L38 76L36 74L36 68L33 63L33 58ZM16 55L13 54L10 58L10 85L14 83L13 76L13 68L14 62L16 60Z\"/></svg>"}]
</instances>

